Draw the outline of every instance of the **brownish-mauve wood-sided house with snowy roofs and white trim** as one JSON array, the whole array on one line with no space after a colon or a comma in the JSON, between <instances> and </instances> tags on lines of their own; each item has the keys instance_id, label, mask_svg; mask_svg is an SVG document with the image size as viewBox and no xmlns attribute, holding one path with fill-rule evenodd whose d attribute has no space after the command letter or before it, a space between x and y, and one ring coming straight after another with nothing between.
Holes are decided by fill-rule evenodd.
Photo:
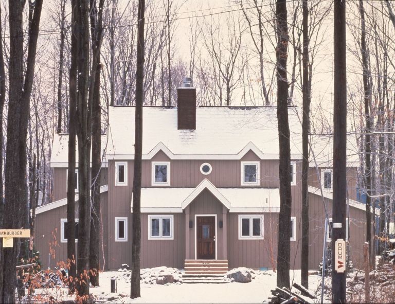
<instances>
[{"instance_id":1,"label":"brownish-mauve wood-sided house with snowy roofs and white trim","mask_svg":"<svg viewBox=\"0 0 395 304\"><path fill-rule=\"evenodd\" d=\"M186 261L207 259L223 261L230 268L276 267L280 209L276 107L196 108L195 88L181 87L177 93L177 108L143 109L141 267L183 269ZM102 140L101 265L105 270L131 263L134 113L132 106L110 107L109 129ZM300 269L302 155L297 108L290 106L289 120L291 267ZM36 210L35 246L43 266L66 260L67 142L67 135L55 135L54 202ZM313 136L312 142L309 268L317 269L325 208L331 221L332 147L330 138ZM351 148L347 242L357 266L362 263L366 216L365 205L356 201L358 156ZM329 243L330 234L325 241ZM55 260L49 256L48 244L56 252Z\"/></svg>"}]
</instances>

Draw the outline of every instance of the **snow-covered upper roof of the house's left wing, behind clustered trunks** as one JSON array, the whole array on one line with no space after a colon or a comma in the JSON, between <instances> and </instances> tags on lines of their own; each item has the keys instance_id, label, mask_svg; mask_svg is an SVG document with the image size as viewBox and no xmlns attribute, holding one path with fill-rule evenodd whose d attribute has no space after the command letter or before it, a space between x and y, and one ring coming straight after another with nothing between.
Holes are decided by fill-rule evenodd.
<instances>
[{"instance_id":1,"label":"snow-covered upper roof of the house's left wing, behind clustered trunks","mask_svg":"<svg viewBox=\"0 0 395 304\"><path fill-rule=\"evenodd\" d=\"M107 136L101 136L101 151L105 149L107 144ZM51 150L51 167L67 167L68 164L68 134L53 135ZM78 142L76 138L76 164L78 166ZM103 161L103 165L106 161Z\"/></svg>"}]
</instances>

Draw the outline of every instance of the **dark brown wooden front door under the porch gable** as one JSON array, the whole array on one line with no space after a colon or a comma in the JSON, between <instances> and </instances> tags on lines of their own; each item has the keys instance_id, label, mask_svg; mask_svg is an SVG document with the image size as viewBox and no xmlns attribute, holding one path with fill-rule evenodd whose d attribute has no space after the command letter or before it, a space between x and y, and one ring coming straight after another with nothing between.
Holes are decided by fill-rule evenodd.
<instances>
[{"instance_id":1,"label":"dark brown wooden front door under the porch gable","mask_svg":"<svg viewBox=\"0 0 395 304\"><path fill-rule=\"evenodd\" d=\"M216 217L196 217L196 258L216 258Z\"/></svg>"}]
</instances>

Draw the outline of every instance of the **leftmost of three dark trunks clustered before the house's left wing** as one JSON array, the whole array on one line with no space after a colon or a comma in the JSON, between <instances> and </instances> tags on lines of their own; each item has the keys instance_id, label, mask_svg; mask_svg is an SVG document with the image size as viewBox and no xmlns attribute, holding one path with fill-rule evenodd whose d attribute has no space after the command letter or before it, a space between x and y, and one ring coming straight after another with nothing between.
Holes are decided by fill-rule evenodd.
<instances>
[{"instance_id":1,"label":"leftmost of three dark trunks clustered before the house's left wing","mask_svg":"<svg viewBox=\"0 0 395 304\"><path fill-rule=\"evenodd\" d=\"M77 123L77 9L76 0L71 1L71 65L69 74L69 120L68 120L68 171L67 171L67 260L69 289L74 291L73 280L77 278L76 240L75 240L75 195L78 185L76 172L76 123Z\"/></svg>"}]
</instances>

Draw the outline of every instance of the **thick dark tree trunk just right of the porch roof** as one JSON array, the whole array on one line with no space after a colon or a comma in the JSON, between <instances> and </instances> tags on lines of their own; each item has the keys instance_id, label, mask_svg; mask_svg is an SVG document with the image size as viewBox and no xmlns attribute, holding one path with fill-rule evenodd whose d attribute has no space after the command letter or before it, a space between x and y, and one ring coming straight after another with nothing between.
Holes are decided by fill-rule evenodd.
<instances>
[{"instance_id":1,"label":"thick dark tree trunk just right of the porch roof","mask_svg":"<svg viewBox=\"0 0 395 304\"><path fill-rule=\"evenodd\" d=\"M288 25L286 0L276 0L277 17L277 121L279 140L280 213L278 218L277 286L290 288L291 251L291 148L288 122L288 80L286 60L288 50Z\"/></svg>"}]
</instances>

